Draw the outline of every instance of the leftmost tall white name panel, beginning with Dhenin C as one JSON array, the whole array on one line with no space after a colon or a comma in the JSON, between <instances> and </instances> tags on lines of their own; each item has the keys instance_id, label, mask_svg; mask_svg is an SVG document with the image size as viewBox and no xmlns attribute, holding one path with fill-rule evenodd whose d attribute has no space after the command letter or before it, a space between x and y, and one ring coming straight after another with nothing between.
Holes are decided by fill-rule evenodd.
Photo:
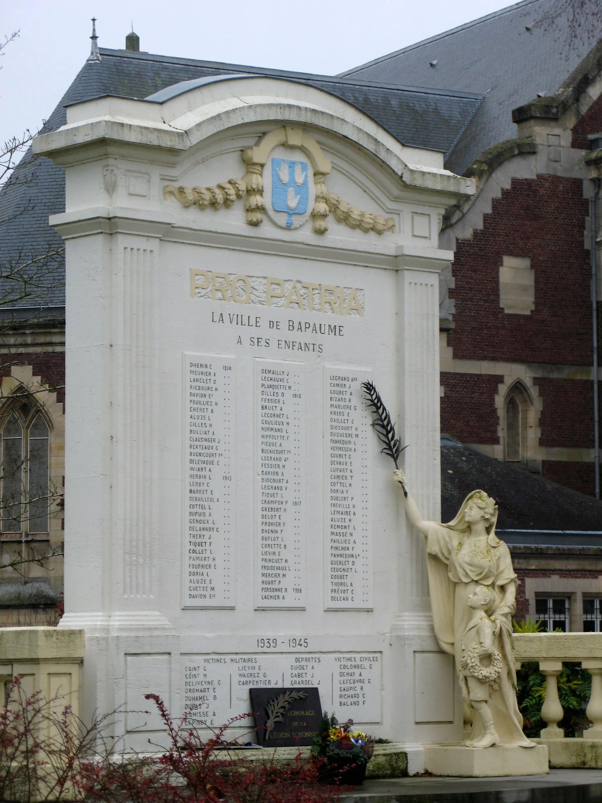
<instances>
[{"instance_id":1,"label":"leftmost tall white name panel, beginning with Dhenin C","mask_svg":"<svg viewBox=\"0 0 602 803\"><path fill-rule=\"evenodd\" d=\"M184 355L185 608L234 607L234 357Z\"/></svg>"}]
</instances>

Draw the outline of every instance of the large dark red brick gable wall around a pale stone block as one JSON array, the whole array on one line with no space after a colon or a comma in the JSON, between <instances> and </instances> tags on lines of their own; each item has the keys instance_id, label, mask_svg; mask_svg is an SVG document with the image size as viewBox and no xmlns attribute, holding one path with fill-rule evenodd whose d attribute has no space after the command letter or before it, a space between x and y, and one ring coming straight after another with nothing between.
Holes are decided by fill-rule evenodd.
<instances>
[{"instance_id":1,"label":"large dark red brick gable wall around a pale stone block","mask_svg":"<svg viewBox=\"0 0 602 803\"><path fill-rule=\"evenodd\" d=\"M589 365L592 361L590 266L584 250L588 202L583 181L558 176L512 180L494 198L482 230L458 240L454 259L456 359ZM499 306L502 257L531 259L535 310Z\"/></svg>"}]
</instances>

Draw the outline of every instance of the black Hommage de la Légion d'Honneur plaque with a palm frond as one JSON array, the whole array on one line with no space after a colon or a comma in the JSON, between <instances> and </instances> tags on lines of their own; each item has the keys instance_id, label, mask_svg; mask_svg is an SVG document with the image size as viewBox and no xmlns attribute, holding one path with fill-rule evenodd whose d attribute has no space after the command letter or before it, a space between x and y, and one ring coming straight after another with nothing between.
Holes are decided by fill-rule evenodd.
<instances>
[{"instance_id":1,"label":"black Hommage de la L\u00e9gion d'Honneur plaque with a palm frond","mask_svg":"<svg viewBox=\"0 0 602 803\"><path fill-rule=\"evenodd\" d=\"M264 687L249 692L257 741L262 747L305 747L318 736L322 706L316 687Z\"/></svg>"}]
</instances>

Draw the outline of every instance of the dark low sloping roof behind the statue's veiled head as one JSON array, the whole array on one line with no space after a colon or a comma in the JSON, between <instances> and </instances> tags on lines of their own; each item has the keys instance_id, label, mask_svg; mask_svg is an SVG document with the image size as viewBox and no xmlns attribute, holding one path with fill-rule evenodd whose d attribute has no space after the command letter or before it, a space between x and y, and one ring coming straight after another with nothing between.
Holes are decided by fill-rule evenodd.
<instances>
[{"instance_id":1,"label":"dark low sloping roof behind the statue's veiled head","mask_svg":"<svg viewBox=\"0 0 602 803\"><path fill-rule=\"evenodd\" d=\"M466 446L441 442L441 520L454 519L466 495L477 488L498 503L498 530L552 531L559 534L555 543L563 544L579 543L577 532L602 535L602 500Z\"/></svg>"}]
</instances>

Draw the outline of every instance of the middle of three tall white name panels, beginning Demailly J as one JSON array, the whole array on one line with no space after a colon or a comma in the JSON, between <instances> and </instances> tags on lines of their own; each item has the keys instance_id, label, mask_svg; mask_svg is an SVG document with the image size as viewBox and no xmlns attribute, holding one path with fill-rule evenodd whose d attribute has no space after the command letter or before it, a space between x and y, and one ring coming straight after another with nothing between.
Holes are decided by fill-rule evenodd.
<instances>
[{"instance_id":1,"label":"middle of three tall white name panels, beginning Demailly J","mask_svg":"<svg viewBox=\"0 0 602 803\"><path fill-rule=\"evenodd\" d=\"M305 366L255 360L255 607L305 606Z\"/></svg>"}]
</instances>

